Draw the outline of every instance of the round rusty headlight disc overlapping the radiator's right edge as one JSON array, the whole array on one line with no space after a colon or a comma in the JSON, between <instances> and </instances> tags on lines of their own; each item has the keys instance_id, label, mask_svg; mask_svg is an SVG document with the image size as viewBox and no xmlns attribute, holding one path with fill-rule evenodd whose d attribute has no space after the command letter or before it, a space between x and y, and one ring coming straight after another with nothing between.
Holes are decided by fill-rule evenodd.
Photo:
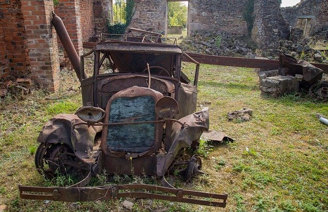
<instances>
[{"instance_id":1,"label":"round rusty headlight disc overlapping the radiator's right edge","mask_svg":"<svg viewBox=\"0 0 328 212\"><path fill-rule=\"evenodd\" d=\"M178 111L178 103L172 97L162 97L156 102L155 112L162 119L172 119Z\"/></svg>"}]
</instances>

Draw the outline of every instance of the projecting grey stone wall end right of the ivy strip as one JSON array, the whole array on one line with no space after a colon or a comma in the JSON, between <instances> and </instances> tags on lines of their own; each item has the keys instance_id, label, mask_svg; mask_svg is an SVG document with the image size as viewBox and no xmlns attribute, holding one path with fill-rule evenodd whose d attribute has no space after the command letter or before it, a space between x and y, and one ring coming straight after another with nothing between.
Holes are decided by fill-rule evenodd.
<instances>
[{"instance_id":1,"label":"projecting grey stone wall end right of the ivy strip","mask_svg":"<svg viewBox=\"0 0 328 212\"><path fill-rule=\"evenodd\" d=\"M253 40L257 42L260 49L277 48L279 41L279 2L277 0L255 0L254 14Z\"/></svg>"}]
</instances>

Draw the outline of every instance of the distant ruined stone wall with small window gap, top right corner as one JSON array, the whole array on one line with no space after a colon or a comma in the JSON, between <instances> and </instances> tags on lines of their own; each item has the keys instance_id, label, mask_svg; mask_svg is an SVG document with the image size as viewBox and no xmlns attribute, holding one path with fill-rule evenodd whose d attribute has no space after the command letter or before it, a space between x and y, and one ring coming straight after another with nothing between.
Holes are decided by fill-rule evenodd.
<instances>
[{"instance_id":1,"label":"distant ruined stone wall with small window gap, top right corner","mask_svg":"<svg viewBox=\"0 0 328 212\"><path fill-rule=\"evenodd\" d=\"M298 18L310 17L310 34L318 29L328 26L327 0L301 0L293 7L281 8L283 18L291 27L296 27Z\"/></svg>"}]
</instances>

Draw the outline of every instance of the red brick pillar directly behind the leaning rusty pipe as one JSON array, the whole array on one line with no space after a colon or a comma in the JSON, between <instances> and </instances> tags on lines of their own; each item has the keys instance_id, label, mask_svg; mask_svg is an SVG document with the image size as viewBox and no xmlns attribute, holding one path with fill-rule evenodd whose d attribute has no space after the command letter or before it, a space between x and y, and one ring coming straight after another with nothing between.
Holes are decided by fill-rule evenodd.
<instances>
[{"instance_id":1,"label":"red brick pillar directly behind the leaning rusty pipe","mask_svg":"<svg viewBox=\"0 0 328 212\"><path fill-rule=\"evenodd\" d=\"M83 55L81 14L79 0L60 0L56 15L63 20L67 32L79 56ZM67 55L65 53L65 59Z\"/></svg>"}]
</instances>

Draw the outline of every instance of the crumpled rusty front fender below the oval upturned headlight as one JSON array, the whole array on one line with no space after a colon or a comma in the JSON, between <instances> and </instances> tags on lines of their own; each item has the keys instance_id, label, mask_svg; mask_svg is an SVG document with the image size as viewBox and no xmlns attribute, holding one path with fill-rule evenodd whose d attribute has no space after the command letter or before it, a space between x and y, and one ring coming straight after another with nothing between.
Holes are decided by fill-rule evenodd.
<instances>
[{"instance_id":1,"label":"crumpled rusty front fender below the oval upturned headlight","mask_svg":"<svg viewBox=\"0 0 328 212\"><path fill-rule=\"evenodd\" d=\"M50 119L42 128L37 141L42 143L64 143L75 152L75 155L85 160L91 155L95 136L103 130L103 126L74 124L84 123L75 114L59 114Z\"/></svg>"}]
</instances>

